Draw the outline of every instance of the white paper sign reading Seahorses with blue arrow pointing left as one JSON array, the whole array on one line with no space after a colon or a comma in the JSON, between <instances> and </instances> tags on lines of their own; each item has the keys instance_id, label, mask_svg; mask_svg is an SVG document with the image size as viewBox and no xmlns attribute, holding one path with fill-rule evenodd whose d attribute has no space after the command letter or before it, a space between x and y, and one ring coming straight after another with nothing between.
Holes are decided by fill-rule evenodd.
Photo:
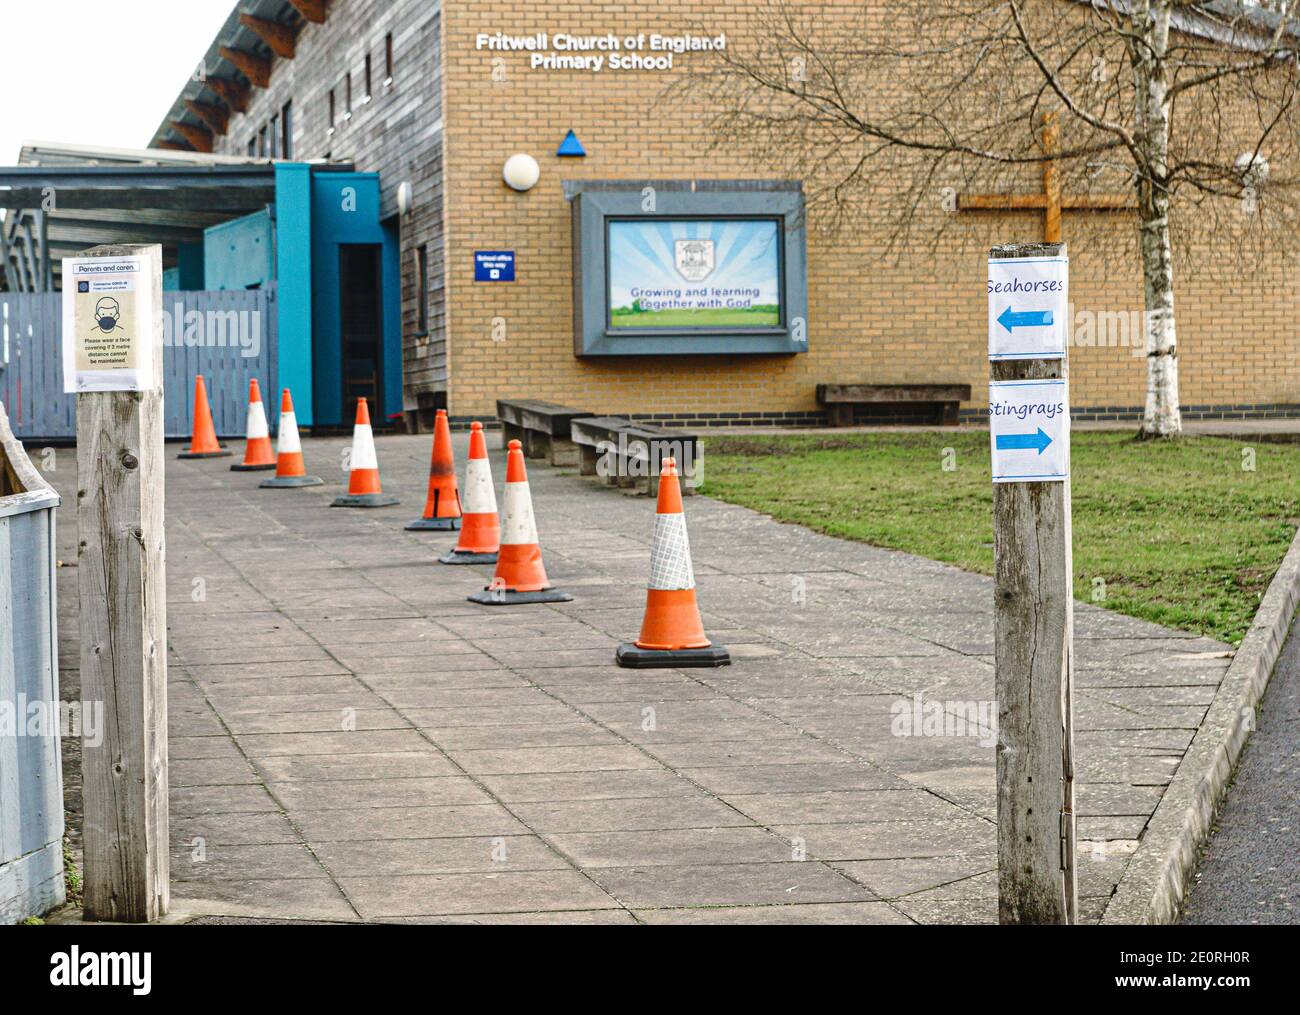
<instances>
[{"instance_id":1,"label":"white paper sign reading Seahorses with blue arrow pointing left","mask_svg":"<svg viewBox=\"0 0 1300 1015\"><path fill-rule=\"evenodd\" d=\"M988 357L1054 360L1065 356L1070 259L989 257Z\"/></svg>"}]
</instances>

